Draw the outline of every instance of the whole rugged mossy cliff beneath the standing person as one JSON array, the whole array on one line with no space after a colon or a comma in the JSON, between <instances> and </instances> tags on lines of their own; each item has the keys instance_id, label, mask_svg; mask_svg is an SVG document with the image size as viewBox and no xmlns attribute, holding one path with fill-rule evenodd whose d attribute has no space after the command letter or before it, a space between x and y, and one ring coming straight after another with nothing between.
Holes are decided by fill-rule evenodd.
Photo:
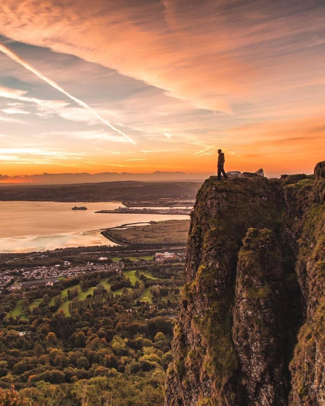
<instances>
[{"instance_id":1,"label":"whole rugged mossy cliff beneath the standing person","mask_svg":"<svg viewBox=\"0 0 325 406\"><path fill-rule=\"evenodd\" d=\"M324 168L202 185L166 405L325 404Z\"/></svg>"}]
</instances>

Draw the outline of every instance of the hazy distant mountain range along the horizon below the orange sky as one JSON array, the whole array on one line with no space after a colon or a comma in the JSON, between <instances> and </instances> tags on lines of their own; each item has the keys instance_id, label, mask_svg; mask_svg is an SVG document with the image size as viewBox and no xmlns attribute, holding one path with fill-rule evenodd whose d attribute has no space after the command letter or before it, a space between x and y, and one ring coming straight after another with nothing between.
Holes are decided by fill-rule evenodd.
<instances>
[{"instance_id":1,"label":"hazy distant mountain range along the horizon below the orange sky","mask_svg":"<svg viewBox=\"0 0 325 406\"><path fill-rule=\"evenodd\" d=\"M72 184L72 183L94 183L94 182L111 182L111 181L203 181L207 177L213 175L212 173L185 173L185 172L161 172L156 171L153 173L43 173L39 175L19 175L9 176L0 175L0 184Z\"/></svg>"}]
</instances>

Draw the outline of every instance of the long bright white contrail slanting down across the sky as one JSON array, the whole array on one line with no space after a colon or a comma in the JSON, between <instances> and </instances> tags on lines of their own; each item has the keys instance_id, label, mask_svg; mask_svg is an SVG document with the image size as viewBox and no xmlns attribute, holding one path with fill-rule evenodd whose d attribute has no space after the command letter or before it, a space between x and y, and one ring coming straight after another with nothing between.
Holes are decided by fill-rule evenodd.
<instances>
[{"instance_id":1,"label":"long bright white contrail slanting down across the sky","mask_svg":"<svg viewBox=\"0 0 325 406\"><path fill-rule=\"evenodd\" d=\"M4 45L3 43L0 42L0 51L3 52L4 54L6 54L6 56L9 56L9 58L11 58L12 60L14 60L15 62L19 63L20 65L22 65L25 69L27 69L28 71L34 73L34 75L38 76L41 80L44 80L44 82L48 83L50 86L54 87L54 89L58 90L59 92L63 93L64 95L66 95L67 97L69 97L69 99L73 100L74 102L76 102L77 104L79 104L79 106L86 108L87 110L89 110L98 120L102 121L102 123L108 125L108 127L111 127L112 130L118 132L119 134L123 135L124 138L126 138L128 141L130 141L130 143L136 145L136 143L132 140L132 138L130 138L128 135L124 134L123 131L119 130L118 128L114 127L114 125L112 125L111 123L109 123L107 120L103 119L102 117L100 117L100 115L98 115L95 110L93 110L93 108L91 108L90 106L88 106L87 103L83 102L80 99L77 99L77 97L74 97L72 95L70 95L70 93L68 93L67 91L65 91L59 84L57 84L56 82L54 82L53 80L47 78L46 76L43 75L43 73L41 73L40 71L38 71L36 68L34 68L32 65L30 65L28 62L26 62L26 60L24 60L23 58L21 58L20 56L18 56L17 54L15 54L15 52L13 52L10 48L8 48L6 45Z\"/></svg>"}]
</instances>

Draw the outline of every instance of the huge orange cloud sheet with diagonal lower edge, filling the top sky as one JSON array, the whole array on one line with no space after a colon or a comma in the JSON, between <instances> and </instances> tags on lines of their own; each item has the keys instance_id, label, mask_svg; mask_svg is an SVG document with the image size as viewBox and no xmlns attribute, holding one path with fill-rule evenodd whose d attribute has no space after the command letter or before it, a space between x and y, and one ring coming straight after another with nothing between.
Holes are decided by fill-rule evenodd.
<instances>
[{"instance_id":1,"label":"huge orange cloud sheet with diagonal lower edge, filling the top sky","mask_svg":"<svg viewBox=\"0 0 325 406\"><path fill-rule=\"evenodd\" d=\"M292 73L290 53L324 43L324 9L307 3L7 0L0 23L9 38L116 69L195 108L231 112L272 80L270 66L275 79L283 74L278 57Z\"/></svg>"}]
</instances>

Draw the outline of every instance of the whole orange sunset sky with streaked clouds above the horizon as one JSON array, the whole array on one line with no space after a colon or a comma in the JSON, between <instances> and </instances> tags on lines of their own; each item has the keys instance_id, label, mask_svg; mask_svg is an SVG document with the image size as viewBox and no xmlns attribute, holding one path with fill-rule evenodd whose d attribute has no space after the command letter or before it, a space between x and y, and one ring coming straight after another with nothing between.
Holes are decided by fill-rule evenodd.
<instances>
[{"instance_id":1,"label":"whole orange sunset sky with streaked clouds above the horizon","mask_svg":"<svg viewBox=\"0 0 325 406\"><path fill-rule=\"evenodd\" d=\"M0 173L311 173L324 160L321 1L6 0ZM0 177L0 181L5 179Z\"/></svg>"}]
</instances>

